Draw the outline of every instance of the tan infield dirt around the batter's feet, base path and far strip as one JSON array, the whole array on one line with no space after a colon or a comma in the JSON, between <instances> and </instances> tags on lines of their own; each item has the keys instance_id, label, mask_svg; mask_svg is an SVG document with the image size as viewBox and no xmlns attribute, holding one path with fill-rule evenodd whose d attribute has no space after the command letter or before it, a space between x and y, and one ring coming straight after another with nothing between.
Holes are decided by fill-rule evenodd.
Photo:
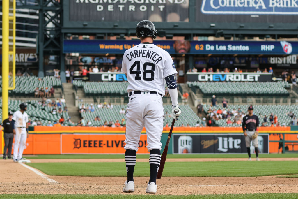
<instances>
[{"instance_id":1,"label":"tan infield dirt around the batter's feet, base path and far strip","mask_svg":"<svg viewBox=\"0 0 298 199\"><path fill-rule=\"evenodd\" d=\"M195 160L193 160L195 159ZM175 161L214 161L203 158L183 158ZM241 158L223 158L236 161ZM272 158L280 160L280 158ZM122 161L120 159L32 159L32 162L101 162ZM171 159L168 159L171 161ZM167 161L168 161L167 160ZM263 158L262 161L270 160ZM283 158L298 160L298 158ZM138 161L148 161L140 159ZM216 158L216 161L220 161ZM45 178L11 160L1 160L0 194L145 194L149 177L135 177L135 192L123 193L125 177L74 177L48 176L56 182ZM82 168L83 169L83 168ZM162 177L157 180L157 194L245 194L245 193L297 193L298 178L261 177Z\"/></svg>"}]
</instances>

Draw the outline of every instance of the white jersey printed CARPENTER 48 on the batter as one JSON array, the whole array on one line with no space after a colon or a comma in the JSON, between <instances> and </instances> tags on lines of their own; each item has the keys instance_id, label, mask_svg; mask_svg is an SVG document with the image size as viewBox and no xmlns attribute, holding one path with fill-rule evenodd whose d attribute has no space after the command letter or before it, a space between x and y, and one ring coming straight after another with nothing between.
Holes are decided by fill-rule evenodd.
<instances>
[{"instance_id":1,"label":"white jersey printed CARPENTER 48 on the batter","mask_svg":"<svg viewBox=\"0 0 298 199\"><path fill-rule=\"evenodd\" d=\"M127 91L156 91L164 95L164 78L176 74L170 54L154 44L141 43L125 51L122 72L127 74Z\"/></svg>"}]
</instances>

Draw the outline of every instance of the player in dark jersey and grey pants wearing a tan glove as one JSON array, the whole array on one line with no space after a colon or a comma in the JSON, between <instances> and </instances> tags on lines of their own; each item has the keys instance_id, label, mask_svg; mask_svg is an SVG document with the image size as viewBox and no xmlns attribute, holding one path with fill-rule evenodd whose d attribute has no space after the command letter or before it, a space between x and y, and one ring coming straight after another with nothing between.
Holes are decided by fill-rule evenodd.
<instances>
[{"instance_id":1,"label":"player in dark jersey and grey pants wearing a tan glove","mask_svg":"<svg viewBox=\"0 0 298 199\"><path fill-rule=\"evenodd\" d=\"M259 118L257 115L253 114L254 108L252 105L248 107L248 115L245 115L243 117L243 122L242 122L242 129L243 133L245 136L245 144L247 148L247 153L248 153L248 161L252 161L252 158L250 156L250 143L252 141L252 145L254 146L255 152L256 152L256 160L260 161L258 153L258 137L253 138L253 135L256 133L258 134L258 128L259 128Z\"/></svg>"}]
</instances>

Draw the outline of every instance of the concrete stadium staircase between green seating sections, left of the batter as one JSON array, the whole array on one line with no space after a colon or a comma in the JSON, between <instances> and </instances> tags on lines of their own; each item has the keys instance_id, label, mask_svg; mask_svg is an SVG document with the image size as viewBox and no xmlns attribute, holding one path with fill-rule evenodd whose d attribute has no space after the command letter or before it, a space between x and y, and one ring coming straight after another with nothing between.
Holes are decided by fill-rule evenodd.
<instances>
[{"instance_id":1,"label":"concrete stadium staircase between green seating sections, left of the batter","mask_svg":"<svg viewBox=\"0 0 298 199\"><path fill-rule=\"evenodd\" d=\"M80 119L80 114L78 112L78 108L75 106L75 91L73 89L73 85L72 83L62 83L62 86L68 114L71 117L70 120L77 123Z\"/></svg>"}]
</instances>

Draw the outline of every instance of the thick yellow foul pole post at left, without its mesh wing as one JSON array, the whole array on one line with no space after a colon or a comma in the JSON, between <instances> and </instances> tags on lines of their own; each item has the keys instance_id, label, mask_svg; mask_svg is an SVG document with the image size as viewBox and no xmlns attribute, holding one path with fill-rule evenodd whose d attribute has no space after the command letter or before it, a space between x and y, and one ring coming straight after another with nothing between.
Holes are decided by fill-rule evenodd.
<instances>
[{"instance_id":1,"label":"thick yellow foul pole post at left, without its mesh wing","mask_svg":"<svg viewBox=\"0 0 298 199\"><path fill-rule=\"evenodd\" d=\"M2 121L8 117L9 0L2 1Z\"/></svg>"}]
</instances>

